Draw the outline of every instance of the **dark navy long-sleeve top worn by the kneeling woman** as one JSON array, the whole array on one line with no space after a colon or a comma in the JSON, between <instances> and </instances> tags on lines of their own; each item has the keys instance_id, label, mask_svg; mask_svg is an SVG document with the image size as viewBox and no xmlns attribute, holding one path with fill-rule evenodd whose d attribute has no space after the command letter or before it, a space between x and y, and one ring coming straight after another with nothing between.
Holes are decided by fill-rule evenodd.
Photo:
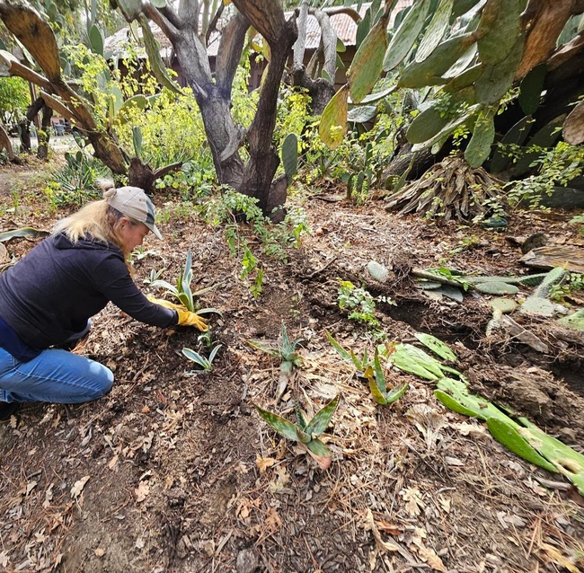
<instances>
[{"instance_id":1,"label":"dark navy long-sleeve top worn by the kneeling woman","mask_svg":"<svg viewBox=\"0 0 584 573\"><path fill-rule=\"evenodd\" d=\"M0 318L38 350L83 331L109 301L146 324L165 328L178 320L176 311L142 294L111 243L91 238L72 243L65 234L52 235L0 274Z\"/></svg>"}]
</instances>

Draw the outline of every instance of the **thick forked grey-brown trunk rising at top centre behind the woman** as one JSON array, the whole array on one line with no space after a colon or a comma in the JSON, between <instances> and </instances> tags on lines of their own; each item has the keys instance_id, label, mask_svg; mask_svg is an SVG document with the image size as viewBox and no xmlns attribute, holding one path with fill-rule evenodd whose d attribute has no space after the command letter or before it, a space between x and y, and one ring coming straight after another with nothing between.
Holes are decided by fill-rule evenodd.
<instances>
[{"instance_id":1,"label":"thick forked grey-brown trunk rising at top centre behind the woman","mask_svg":"<svg viewBox=\"0 0 584 573\"><path fill-rule=\"evenodd\" d=\"M245 32L250 22L239 13L223 31L218 50L216 77L213 81L205 47L196 31L183 28L173 33L173 46L182 74L199 104L213 162L220 183L258 199L258 206L270 216L286 200L286 179L274 180L279 166L277 150L272 145L279 85L288 53L296 40L294 26L284 20L281 8L257 0L237 0L240 11L251 14L251 22L270 43L271 59L261 86L258 110L250 128L234 124L231 115L231 89L235 69L241 57ZM244 163L238 150L248 143L250 160ZM279 214L281 216L281 213Z\"/></svg>"}]
</instances>

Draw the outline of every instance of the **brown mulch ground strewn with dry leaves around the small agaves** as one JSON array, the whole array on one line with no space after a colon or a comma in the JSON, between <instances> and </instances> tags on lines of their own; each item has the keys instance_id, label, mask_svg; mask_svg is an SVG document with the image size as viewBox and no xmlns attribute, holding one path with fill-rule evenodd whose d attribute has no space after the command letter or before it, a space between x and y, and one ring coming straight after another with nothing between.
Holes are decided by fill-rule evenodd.
<instances>
[{"instance_id":1,"label":"brown mulch ground strewn with dry leaves around the small agaves","mask_svg":"<svg viewBox=\"0 0 584 573\"><path fill-rule=\"evenodd\" d=\"M571 215L518 213L497 232L388 215L382 202L355 207L335 192L342 190L292 197L312 233L290 249L288 264L261 255L242 225L265 273L257 299L220 227L180 209L161 225L164 242L147 239L145 251L155 252L136 262L137 283L152 269L165 269L173 282L190 249L196 286L220 285L201 304L221 311L211 324L223 347L211 372L192 375L181 349L208 355L198 331L149 327L111 305L95 317L75 352L111 367L109 396L73 407L30 404L0 424L0 569L584 570L584 498L567 481L510 454L481 422L445 410L433 383L392 370L388 383L407 381L410 390L377 406L324 333L356 353L374 348L339 308L339 279L388 296L394 304L376 306L388 339L415 342L414 333L425 331L445 340L474 389L578 447L581 348L549 339L535 319L525 325L548 354L504 337L487 340L488 296L430 299L407 272L524 274L509 236L540 230L552 242L576 239ZM16 209L2 199L4 228L49 229L63 215L47 213L34 192L22 194ZM17 239L7 248L20 257L33 244ZM388 283L367 274L369 260L393 269ZM519 296L530 292L521 287ZM279 364L247 340L278 339L281 322L290 338L303 339L304 363L276 404ZM253 409L293 419L295 401L314 412L338 392L341 405L323 437L333 452L326 472Z\"/></svg>"}]
</instances>

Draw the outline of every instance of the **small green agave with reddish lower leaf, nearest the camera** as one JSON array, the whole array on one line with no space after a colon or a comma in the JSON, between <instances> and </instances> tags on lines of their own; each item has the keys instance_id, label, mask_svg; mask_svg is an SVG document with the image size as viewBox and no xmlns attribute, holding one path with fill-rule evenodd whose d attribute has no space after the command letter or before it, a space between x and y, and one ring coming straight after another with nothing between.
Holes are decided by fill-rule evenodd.
<instances>
[{"instance_id":1,"label":"small green agave with reddish lower leaf, nearest the camera","mask_svg":"<svg viewBox=\"0 0 584 573\"><path fill-rule=\"evenodd\" d=\"M339 401L341 401L341 394L338 394L322 410L314 414L314 418L308 422L306 422L304 413L296 404L297 424L288 422L287 419L281 418L268 410L262 410L259 406L255 406L255 409L258 410L258 414L268 423L270 428L275 429L280 436L304 445L308 454L314 457L320 468L327 470L331 465L332 452L327 445L318 439L318 436L329 425L332 414L337 410Z\"/></svg>"}]
</instances>

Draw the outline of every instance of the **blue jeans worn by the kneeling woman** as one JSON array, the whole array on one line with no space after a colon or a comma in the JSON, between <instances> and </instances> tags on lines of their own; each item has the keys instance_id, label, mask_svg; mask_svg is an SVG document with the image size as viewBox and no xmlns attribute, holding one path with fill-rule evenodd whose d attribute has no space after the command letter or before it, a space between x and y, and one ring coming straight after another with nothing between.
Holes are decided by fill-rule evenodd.
<instances>
[{"instance_id":1,"label":"blue jeans worn by the kneeling woman","mask_svg":"<svg viewBox=\"0 0 584 573\"><path fill-rule=\"evenodd\" d=\"M87 331L89 325L72 339ZM0 401L74 404L102 398L112 384L110 368L66 350L49 348L29 362L20 362L0 348Z\"/></svg>"}]
</instances>

